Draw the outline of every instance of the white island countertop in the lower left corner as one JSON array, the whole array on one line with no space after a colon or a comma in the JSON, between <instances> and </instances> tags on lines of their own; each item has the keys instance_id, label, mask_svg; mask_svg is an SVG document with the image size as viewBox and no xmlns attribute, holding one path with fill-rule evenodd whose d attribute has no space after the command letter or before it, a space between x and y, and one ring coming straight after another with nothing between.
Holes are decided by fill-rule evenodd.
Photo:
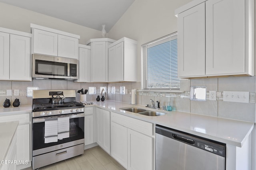
<instances>
[{"instance_id":1,"label":"white island countertop in the lower left corner","mask_svg":"<svg viewBox=\"0 0 256 170\"><path fill-rule=\"evenodd\" d=\"M5 160L19 121L0 123L0 160Z\"/></svg>"}]
</instances>

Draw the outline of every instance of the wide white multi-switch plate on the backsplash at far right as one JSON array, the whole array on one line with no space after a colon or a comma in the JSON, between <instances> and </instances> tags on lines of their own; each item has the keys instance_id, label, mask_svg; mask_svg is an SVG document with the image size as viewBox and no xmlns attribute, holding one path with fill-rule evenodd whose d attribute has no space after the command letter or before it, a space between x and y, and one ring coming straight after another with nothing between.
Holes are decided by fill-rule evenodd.
<instances>
[{"instance_id":1,"label":"wide white multi-switch plate on the backsplash at far right","mask_svg":"<svg viewBox=\"0 0 256 170\"><path fill-rule=\"evenodd\" d=\"M249 92L223 91L223 101L249 103Z\"/></svg>"}]
</instances>

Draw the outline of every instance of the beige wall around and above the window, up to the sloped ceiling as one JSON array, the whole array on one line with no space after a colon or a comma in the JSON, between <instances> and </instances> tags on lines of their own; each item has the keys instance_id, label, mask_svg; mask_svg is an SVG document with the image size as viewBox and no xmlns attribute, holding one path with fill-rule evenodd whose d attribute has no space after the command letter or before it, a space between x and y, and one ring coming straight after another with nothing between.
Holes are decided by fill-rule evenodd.
<instances>
[{"instance_id":1,"label":"beige wall around and above the window, up to the sloped ceiling","mask_svg":"<svg viewBox=\"0 0 256 170\"><path fill-rule=\"evenodd\" d=\"M177 31L174 10L192 0L135 0L108 32L108 37L138 41L137 77L141 80L141 45Z\"/></svg>"}]
</instances>

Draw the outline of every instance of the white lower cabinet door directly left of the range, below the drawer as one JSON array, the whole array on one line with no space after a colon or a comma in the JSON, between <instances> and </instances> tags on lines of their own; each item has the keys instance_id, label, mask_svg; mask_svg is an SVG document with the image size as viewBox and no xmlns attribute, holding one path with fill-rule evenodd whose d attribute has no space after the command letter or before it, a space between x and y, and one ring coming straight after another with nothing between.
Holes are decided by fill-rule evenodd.
<instances>
[{"instance_id":1,"label":"white lower cabinet door directly left of the range, below the drawer","mask_svg":"<svg viewBox=\"0 0 256 170\"><path fill-rule=\"evenodd\" d=\"M18 125L17 160L30 161L30 125Z\"/></svg>"}]
</instances>

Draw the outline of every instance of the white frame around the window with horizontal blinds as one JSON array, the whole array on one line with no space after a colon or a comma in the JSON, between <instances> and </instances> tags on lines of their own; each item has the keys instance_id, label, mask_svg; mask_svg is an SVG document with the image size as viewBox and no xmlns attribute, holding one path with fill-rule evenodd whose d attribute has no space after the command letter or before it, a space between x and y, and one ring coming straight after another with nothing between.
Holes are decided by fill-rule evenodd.
<instances>
[{"instance_id":1,"label":"white frame around the window with horizontal blinds","mask_svg":"<svg viewBox=\"0 0 256 170\"><path fill-rule=\"evenodd\" d=\"M169 35L166 35L164 37L161 37L159 39L156 39L156 40L153 40L153 41L150 41L148 43L145 43L143 45L141 45L141 89L142 90L152 90L152 91L179 91L180 90L180 79L178 78L178 63L177 63L177 70L176 70L176 74L177 74L177 78L176 80L174 80L176 82L176 85L178 84L179 86L177 87L172 87L172 84L170 85L170 87L167 87L167 88L148 88L146 87L147 84L145 85L145 81L148 81L147 79L147 59L145 59L145 57L148 57L147 56L147 49L150 48L150 47L154 47L156 45L159 45L159 44L162 44L162 43L165 43L165 42L168 42L168 41L171 41L171 40L174 40L174 39L178 39L178 36L177 36L177 32L174 32L174 33L171 33ZM178 47L177 47L178 48ZM177 52L178 52L178 49L177 49ZM178 81L178 82L177 82ZM147 82L148 83L148 82Z\"/></svg>"}]
</instances>

